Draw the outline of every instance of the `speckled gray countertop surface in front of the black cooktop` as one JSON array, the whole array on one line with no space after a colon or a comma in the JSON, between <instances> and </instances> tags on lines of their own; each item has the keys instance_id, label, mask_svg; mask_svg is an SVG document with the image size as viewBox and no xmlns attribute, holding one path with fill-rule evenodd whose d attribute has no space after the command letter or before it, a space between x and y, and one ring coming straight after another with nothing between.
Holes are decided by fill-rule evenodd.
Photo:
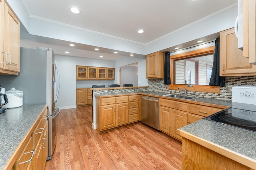
<instances>
[{"instance_id":1,"label":"speckled gray countertop surface in front of the black cooktop","mask_svg":"<svg viewBox=\"0 0 256 170\"><path fill-rule=\"evenodd\" d=\"M181 131L194 135L224 147L227 152L242 154L256 165L256 133L206 119L201 119L180 128ZM196 142L196 141L194 141ZM255 167L254 167L255 168Z\"/></svg>"}]
</instances>

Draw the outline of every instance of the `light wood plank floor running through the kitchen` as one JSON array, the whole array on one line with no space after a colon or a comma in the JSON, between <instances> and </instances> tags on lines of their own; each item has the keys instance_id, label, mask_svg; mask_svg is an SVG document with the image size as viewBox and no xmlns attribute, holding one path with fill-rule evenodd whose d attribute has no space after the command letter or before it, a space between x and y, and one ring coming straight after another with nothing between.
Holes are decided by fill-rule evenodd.
<instances>
[{"instance_id":1,"label":"light wood plank floor running through the kitchen","mask_svg":"<svg viewBox=\"0 0 256 170\"><path fill-rule=\"evenodd\" d=\"M46 170L181 170L182 144L142 123L101 134L92 129L92 106L58 116L56 149Z\"/></svg>"}]
</instances>

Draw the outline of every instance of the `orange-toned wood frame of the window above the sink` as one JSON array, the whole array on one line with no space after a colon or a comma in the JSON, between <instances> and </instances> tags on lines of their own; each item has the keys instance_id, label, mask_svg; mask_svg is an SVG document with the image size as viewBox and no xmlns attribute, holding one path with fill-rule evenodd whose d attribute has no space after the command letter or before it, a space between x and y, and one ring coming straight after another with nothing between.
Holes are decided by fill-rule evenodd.
<instances>
[{"instance_id":1,"label":"orange-toned wood frame of the window above the sink","mask_svg":"<svg viewBox=\"0 0 256 170\"><path fill-rule=\"evenodd\" d=\"M176 59L186 59L189 57L196 57L202 55L210 55L214 53L214 46L206 47L202 49L197 49L193 51L188 51L186 53L181 53L177 55L170 56L170 78L171 84L168 85L169 90L177 90L178 87L186 87L188 91L195 91L195 92L209 92L209 93L220 93L220 86L209 86L209 85L192 85L192 87L188 86L188 84L173 84L174 82L174 60Z\"/></svg>"}]
</instances>

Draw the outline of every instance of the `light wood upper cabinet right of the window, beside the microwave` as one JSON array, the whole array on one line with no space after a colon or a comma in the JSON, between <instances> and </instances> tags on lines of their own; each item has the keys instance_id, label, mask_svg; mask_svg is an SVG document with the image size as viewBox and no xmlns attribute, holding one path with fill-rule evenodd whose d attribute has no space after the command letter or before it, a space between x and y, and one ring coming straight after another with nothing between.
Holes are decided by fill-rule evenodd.
<instances>
[{"instance_id":1,"label":"light wood upper cabinet right of the window, beside the microwave","mask_svg":"<svg viewBox=\"0 0 256 170\"><path fill-rule=\"evenodd\" d=\"M238 49L234 28L220 32L220 76L256 75L256 66Z\"/></svg>"}]
</instances>

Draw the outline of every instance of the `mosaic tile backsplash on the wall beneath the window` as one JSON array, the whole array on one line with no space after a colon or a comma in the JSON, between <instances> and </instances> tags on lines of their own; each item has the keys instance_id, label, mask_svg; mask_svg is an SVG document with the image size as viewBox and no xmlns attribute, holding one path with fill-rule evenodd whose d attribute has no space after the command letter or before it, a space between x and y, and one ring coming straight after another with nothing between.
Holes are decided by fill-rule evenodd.
<instances>
[{"instance_id":1,"label":"mosaic tile backsplash on the wall beneath the window","mask_svg":"<svg viewBox=\"0 0 256 170\"><path fill-rule=\"evenodd\" d=\"M160 84L160 87L159 87ZM256 76L235 76L225 78L226 87L220 88L220 93L205 93L197 92L197 96L206 98L218 98L232 100L232 94L228 93L228 86L241 86L243 84L256 86ZM177 93L182 94L180 90L168 90L168 85L164 84L164 79L148 79L148 91ZM193 92L188 91L188 95L193 95Z\"/></svg>"}]
</instances>

